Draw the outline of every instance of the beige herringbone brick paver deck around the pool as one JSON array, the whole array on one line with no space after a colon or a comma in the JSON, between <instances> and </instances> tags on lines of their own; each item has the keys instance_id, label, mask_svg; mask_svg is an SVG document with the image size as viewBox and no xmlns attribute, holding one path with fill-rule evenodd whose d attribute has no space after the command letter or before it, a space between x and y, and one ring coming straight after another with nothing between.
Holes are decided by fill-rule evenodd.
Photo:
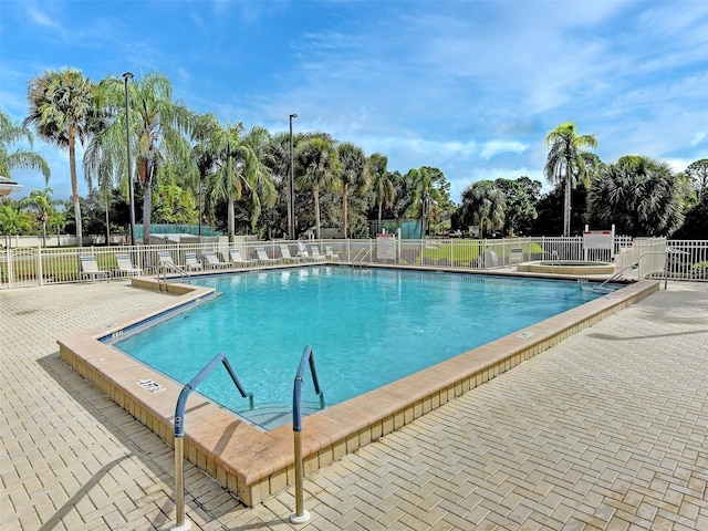
<instances>
[{"instance_id":1,"label":"beige herringbone brick paver deck around the pool","mask_svg":"<svg viewBox=\"0 0 708 531\"><path fill-rule=\"evenodd\" d=\"M0 291L0 529L169 529L171 449L55 340L154 304L125 283ZM708 283L659 291L305 481L302 530L708 530ZM195 530L291 529L185 468Z\"/></svg>"}]
</instances>

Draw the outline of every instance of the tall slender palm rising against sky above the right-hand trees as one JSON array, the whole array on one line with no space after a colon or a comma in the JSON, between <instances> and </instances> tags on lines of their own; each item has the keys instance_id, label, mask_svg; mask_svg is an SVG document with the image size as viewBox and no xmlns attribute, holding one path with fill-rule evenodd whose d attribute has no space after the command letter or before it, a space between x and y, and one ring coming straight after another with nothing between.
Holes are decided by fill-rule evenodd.
<instances>
[{"instance_id":1,"label":"tall slender palm rising against sky above the right-hand trees","mask_svg":"<svg viewBox=\"0 0 708 531\"><path fill-rule=\"evenodd\" d=\"M579 135L575 124L566 122L559 125L545 136L549 156L545 160L544 174L550 183L563 185L563 236L571 233L571 188L584 183L587 176L584 150L597 147L593 135Z\"/></svg>"}]
</instances>

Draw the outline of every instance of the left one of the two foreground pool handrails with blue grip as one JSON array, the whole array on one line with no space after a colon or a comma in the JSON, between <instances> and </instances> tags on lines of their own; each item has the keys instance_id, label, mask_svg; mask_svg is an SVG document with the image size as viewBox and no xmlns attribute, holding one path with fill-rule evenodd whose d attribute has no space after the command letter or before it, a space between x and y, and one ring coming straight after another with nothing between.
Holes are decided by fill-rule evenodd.
<instances>
[{"instance_id":1,"label":"left one of the two foreground pool handrails with blue grip","mask_svg":"<svg viewBox=\"0 0 708 531\"><path fill-rule=\"evenodd\" d=\"M249 407L253 409L253 394L247 393L243 389L226 354L217 354L214 356L214 358L181 388L179 398L177 398L177 406L175 407L175 504L177 506L177 527L173 528L174 530L186 531L191 528L191 522L185 522L185 408L187 406L187 398L219 363L223 364L233 384L236 384L236 388L243 398L248 397Z\"/></svg>"}]
</instances>

